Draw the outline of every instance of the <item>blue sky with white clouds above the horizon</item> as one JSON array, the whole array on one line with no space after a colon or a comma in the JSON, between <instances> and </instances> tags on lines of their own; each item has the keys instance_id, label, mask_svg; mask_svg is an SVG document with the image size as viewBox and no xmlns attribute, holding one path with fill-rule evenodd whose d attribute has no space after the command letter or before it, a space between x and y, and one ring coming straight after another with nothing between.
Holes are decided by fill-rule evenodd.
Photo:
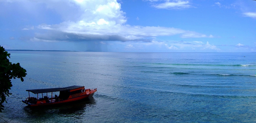
<instances>
[{"instance_id":1,"label":"blue sky with white clouds above the horizon","mask_svg":"<svg viewBox=\"0 0 256 123\"><path fill-rule=\"evenodd\" d=\"M255 0L0 0L6 50L256 52Z\"/></svg>"}]
</instances>

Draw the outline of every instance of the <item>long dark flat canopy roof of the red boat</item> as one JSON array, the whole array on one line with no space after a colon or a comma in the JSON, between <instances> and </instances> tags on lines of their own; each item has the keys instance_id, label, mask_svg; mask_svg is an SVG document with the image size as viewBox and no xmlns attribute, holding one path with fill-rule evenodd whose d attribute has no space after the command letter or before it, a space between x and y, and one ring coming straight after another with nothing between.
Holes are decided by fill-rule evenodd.
<instances>
[{"instance_id":1,"label":"long dark flat canopy roof of the red boat","mask_svg":"<svg viewBox=\"0 0 256 123\"><path fill-rule=\"evenodd\" d=\"M48 93L48 92L56 92L56 91L65 91L65 90L73 90L76 88L81 88L84 86L69 86L69 87L65 87L65 88L46 88L46 89L32 89L32 90L26 90L28 92L32 92L34 94L38 94L38 93Z\"/></svg>"}]
</instances>

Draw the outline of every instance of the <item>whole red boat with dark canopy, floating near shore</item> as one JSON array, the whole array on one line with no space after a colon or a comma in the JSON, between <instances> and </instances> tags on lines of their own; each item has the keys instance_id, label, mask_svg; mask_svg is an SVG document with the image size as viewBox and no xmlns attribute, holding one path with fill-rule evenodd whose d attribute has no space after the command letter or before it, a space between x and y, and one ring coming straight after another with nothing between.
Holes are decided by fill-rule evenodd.
<instances>
[{"instance_id":1,"label":"whole red boat with dark canopy, floating near shore","mask_svg":"<svg viewBox=\"0 0 256 123\"><path fill-rule=\"evenodd\" d=\"M22 100L22 102L28 104L31 107L36 107L44 105L63 104L85 98L92 98L93 94L97 91L97 88L85 89L84 86L69 86L65 88L32 89L26 91L28 91L28 98L26 98L26 100ZM30 96L29 92L37 94L37 97ZM59 96L52 96L53 92L59 92ZM48 96L48 93L51 94L50 97Z\"/></svg>"}]
</instances>

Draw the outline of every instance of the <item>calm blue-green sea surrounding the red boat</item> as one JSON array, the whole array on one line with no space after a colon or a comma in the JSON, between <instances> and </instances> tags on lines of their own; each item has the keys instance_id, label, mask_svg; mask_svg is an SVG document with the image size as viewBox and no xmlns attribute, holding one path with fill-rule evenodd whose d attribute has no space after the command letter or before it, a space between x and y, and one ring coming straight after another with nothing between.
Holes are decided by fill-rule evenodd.
<instances>
[{"instance_id":1,"label":"calm blue-green sea surrounding the red boat","mask_svg":"<svg viewBox=\"0 0 256 123\"><path fill-rule=\"evenodd\" d=\"M256 53L8 53L27 76L12 79L3 123L256 122ZM98 91L60 106L21 102L27 89L73 85Z\"/></svg>"}]
</instances>

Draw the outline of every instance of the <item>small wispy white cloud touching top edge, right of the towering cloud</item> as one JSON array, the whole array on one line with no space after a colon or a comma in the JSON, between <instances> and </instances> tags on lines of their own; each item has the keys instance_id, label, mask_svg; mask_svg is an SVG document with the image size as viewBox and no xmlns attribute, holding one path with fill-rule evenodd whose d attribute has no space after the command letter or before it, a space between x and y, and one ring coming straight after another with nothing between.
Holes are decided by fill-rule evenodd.
<instances>
[{"instance_id":1,"label":"small wispy white cloud touching top edge, right of the towering cloud","mask_svg":"<svg viewBox=\"0 0 256 123\"><path fill-rule=\"evenodd\" d=\"M169 2L168 0L165 3L153 4L152 6L157 9L184 9L184 8L191 7L191 5L189 5L189 1L182 1L182 0L178 0L176 2Z\"/></svg>"}]
</instances>

